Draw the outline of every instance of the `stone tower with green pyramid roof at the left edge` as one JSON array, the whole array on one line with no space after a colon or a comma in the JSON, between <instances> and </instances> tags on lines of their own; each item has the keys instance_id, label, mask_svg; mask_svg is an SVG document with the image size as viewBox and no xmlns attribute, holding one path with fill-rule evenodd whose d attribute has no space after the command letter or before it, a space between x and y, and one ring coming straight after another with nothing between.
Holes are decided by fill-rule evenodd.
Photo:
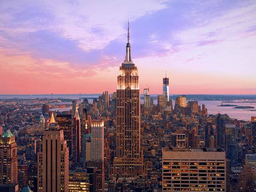
<instances>
[{"instance_id":1,"label":"stone tower with green pyramid roof at the left edge","mask_svg":"<svg viewBox=\"0 0 256 192\"><path fill-rule=\"evenodd\" d=\"M10 130L0 137L0 184L18 184L17 144Z\"/></svg>"}]
</instances>

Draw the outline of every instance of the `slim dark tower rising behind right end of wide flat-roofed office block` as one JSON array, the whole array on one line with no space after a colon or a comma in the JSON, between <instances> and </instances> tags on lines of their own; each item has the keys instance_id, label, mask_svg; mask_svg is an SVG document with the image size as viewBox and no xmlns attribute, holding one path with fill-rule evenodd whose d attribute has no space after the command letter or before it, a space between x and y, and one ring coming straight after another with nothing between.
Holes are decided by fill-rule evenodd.
<instances>
[{"instance_id":1,"label":"slim dark tower rising behind right end of wide flat-roofed office block","mask_svg":"<svg viewBox=\"0 0 256 192\"><path fill-rule=\"evenodd\" d=\"M217 115L217 147L225 148L224 136L225 136L225 127L224 119L221 114Z\"/></svg>"}]
</instances>

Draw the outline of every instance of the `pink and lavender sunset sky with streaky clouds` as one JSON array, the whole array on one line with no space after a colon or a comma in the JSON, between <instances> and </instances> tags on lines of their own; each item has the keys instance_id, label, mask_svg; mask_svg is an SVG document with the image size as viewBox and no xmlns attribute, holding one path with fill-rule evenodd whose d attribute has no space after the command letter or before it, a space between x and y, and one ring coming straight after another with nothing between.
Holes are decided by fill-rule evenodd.
<instances>
[{"instance_id":1,"label":"pink and lavender sunset sky with streaky clouds","mask_svg":"<svg viewBox=\"0 0 256 192\"><path fill-rule=\"evenodd\" d=\"M141 92L256 94L255 0L0 1L0 94L116 91L128 20Z\"/></svg>"}]
</instances>

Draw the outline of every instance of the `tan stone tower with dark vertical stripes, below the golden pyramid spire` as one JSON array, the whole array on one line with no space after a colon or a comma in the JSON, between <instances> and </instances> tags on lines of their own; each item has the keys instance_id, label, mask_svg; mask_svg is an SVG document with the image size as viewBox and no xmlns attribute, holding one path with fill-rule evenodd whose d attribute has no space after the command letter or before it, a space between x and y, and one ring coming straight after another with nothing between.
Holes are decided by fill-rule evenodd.
<instances>
[{"instance_id":1,"label":"tan stone tower with dark vertical stripes, below the golden pyramid spire","mask_svg":"<svg viewBox=\"0 0 256 192\"><path fill-rule=\"evenodd\" d=\"M38 152L38 192L68 192L68 155L63 130L45 130Z\"/></svg>"}]
</instances>

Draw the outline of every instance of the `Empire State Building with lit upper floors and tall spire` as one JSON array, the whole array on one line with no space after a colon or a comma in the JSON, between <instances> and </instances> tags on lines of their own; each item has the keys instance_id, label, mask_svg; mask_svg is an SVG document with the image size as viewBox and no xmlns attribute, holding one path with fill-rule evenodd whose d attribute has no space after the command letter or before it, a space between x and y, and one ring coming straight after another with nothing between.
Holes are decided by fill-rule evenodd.
<instances>
[{"instance_id":1,"label":"Empire State Building with lit upper floors and tall spire","mask_svg":"<svg viewBox=\"0 0 256 192\"><path fill-rule=\"evenodd\" d=\"M131 59L128 23L126 57L117 77L116 177L142 176L143 156L140 150L140 88L138 69Z\"/></svg>"}]
</instances>

